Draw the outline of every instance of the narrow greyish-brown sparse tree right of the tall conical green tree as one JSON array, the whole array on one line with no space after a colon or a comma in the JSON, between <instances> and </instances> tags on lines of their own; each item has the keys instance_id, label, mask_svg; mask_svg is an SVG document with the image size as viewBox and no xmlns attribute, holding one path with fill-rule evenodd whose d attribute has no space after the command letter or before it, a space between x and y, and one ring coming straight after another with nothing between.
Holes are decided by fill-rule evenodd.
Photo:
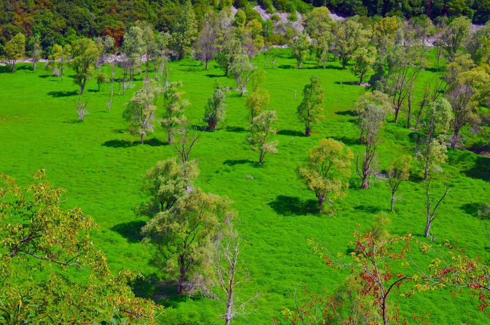
<instances>
[{"instance_id":1,"label":"narrow greyish-brown sparse tree right of the tall conical green tree","mask_svg":"<svg viewBox=\"0 0 490 325\"><path fill-rule=\"evenodd\" d=\"M206 70L209 61L214 58L216 52L216 39L218 37L218 21L214 13L206 14L203 20L203 29L197 38L197 47L201 63L206 63Z\"/></svg>"}]
</instances>

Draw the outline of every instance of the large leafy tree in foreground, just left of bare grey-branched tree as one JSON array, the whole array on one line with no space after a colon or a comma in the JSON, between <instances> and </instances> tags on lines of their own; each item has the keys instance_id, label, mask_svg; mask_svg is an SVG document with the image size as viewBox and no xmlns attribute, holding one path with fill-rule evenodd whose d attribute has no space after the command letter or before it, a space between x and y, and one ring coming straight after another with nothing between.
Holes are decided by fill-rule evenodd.
<instances>
[{"instance_id":1,"label":"large leafy tree in foreground, just left of bare grey-branched tree","mask_svg":"<svg viewBox=\"0 0 490 325\"><path fill-rule=\"evenodd\" d=\"M193 279L209 265L211 239L218 223L230 213L230 205L227 197L194 189L141 229L143 243L156 248L156 261L177 277L178 294L191 291Z\"/></svg>"}]
</instances>

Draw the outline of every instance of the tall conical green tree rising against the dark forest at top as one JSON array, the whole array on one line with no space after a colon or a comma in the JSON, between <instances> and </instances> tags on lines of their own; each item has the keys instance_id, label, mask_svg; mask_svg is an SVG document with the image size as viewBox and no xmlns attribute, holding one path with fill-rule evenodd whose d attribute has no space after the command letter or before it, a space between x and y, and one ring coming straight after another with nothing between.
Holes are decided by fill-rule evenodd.
<instances>
[{"instance_id":1,"label":"tall conical green tree rising against the dark forest at top","mask_svg":"<svg viewBox=\"0 0 490 325\"><path fill-rule=\"evenodd\" d=\"M186 0L177 14L172 27L172 49L181 59L192 48L191 45L196 40L197 23L194 8L191 1Z\"/></svg>"}]
</instances>

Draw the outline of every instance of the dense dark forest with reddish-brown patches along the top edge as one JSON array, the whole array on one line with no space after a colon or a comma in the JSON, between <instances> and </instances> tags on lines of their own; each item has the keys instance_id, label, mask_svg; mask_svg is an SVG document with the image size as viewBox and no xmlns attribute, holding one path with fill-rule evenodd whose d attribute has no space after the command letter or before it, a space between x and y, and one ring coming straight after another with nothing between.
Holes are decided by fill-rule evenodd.
<instances>
[{"instance_id":1,"label":"dense dark forest with reddish-brown patches along the top edge","mask_svg":"<svg viewBox=\"0 0 490 325\"><path fill-rule=\"evenodd\" d=\"M79 37L111 36L116 46L136 21L146 21L156 30L172 31L183 1L173 0L1 0L0 44L21 32L36 36L41 47L50 52L53 44L69 44ZM434 21L465 15L474 23L484 24L490 17L490 0L259 0L272 13L298 11L308 13L313 7L327 6L345 15L398 16L411 18L428 15ZM234 5L247 16L260 16L246 0L193 0L198 26L205 13ZM46 55L45 55L46 56Z\"/></svg>"}]
</instances>

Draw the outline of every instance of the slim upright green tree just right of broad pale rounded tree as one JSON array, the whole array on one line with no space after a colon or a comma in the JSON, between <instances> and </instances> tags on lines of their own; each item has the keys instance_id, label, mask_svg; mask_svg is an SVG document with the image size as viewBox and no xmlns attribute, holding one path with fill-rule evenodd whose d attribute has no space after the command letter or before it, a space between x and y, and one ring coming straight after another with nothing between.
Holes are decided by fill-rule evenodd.
<instances>
[{"instance_id":1,"label":"slim upright green tree just right of broad pale rounded tree","mask_svg":"<svg viewBox=\"0 0 490 325\"><path fill-rule=\"evenodd\" d=\"M174 127L180 123L185 107L189 106L188 100L181 99L185 94L179 90L181 87L182 81L173 81L163 90L165 114L160 120L160 125L167 131L168 144L172 144Z\"/></svg>"}]
</instances>

